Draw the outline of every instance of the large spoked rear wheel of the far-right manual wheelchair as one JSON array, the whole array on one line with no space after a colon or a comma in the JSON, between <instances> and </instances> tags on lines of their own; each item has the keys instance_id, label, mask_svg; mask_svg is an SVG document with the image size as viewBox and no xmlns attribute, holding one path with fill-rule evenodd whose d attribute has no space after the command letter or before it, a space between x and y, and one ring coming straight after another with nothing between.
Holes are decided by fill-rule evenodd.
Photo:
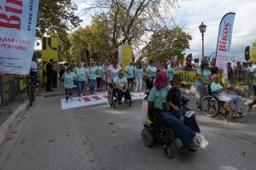
<instances>
[{"instance_id":1,"label":"large spoked rear wheel of the far-right manual wheelchair","mask_svg":"<svg viewBox=\"0 0 256 170\"><path fill-rule=\"evenodd\" d=\"M201 110L206 116L217 116L219 108L218 99L212 95L207 95L201 100Z\"/></svg>"}]
</instances>

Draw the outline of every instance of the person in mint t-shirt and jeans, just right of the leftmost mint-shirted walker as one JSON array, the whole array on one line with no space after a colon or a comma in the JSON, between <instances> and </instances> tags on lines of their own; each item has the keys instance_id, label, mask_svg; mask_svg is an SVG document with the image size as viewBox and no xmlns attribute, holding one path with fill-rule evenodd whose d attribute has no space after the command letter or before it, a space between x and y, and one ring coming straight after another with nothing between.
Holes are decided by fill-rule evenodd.
<instances>
[{"instance_id":1,"label":"person in mint t-shirt and jeans, just right of the leftmost mint-shirted walker","mask_svg":"<svg viewBox=\"0 0 256 170\"><path fill-rule=\"evenodd\" d=\"M87 79L87 73L84 70L84 67L82 65L82 62L79 62L78 66L75 68L74 73L77 76L77 84L78 84L78 94L79 94L79 101L81 100L83 91L84 91L84 85L85 81Z\"/></svg>"}]
</instances>

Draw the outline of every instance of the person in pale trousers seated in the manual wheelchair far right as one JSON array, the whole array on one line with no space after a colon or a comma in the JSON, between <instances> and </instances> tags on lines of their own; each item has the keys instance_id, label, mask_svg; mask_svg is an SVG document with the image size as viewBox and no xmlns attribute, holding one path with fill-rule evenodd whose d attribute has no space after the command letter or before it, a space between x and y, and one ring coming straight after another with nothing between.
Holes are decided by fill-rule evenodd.
<instances>
[{"instance_id":1,"label":"person in pale trousers seated in the manual wheelchair far right","mask_svg":"<svg viewBox=\"0 0 256 170\"><path fill-rule=\"evenodd\" d=\"M241 110L241 97L238 95L226 94L225 92L227 88L221 86L220 83L218 83L218 75L212 75L211 79L212 82L210 84L210 90L212 94L215 94L219 101L230 103L234 117L244 116Z\"/></svg>"}]
</instances>

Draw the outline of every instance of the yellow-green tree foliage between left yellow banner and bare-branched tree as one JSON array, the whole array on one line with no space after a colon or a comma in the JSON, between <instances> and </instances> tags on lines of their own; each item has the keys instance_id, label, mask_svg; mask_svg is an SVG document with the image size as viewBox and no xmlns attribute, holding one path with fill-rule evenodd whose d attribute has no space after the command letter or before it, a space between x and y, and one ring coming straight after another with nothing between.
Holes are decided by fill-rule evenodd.
<instances>
[{"instance_id":1,"label":"yellow-green tree foliage between left yellow banner and bare-branched tree","mask_svg":"<svg viewBox=\"0 0 256 170\"><path fill-rule=\"evenodd\" d=\"M113 53L108 36L108 24L94 17L90 26L70 35L72 60L108 59Z\"/></svg>"}]
</instances>

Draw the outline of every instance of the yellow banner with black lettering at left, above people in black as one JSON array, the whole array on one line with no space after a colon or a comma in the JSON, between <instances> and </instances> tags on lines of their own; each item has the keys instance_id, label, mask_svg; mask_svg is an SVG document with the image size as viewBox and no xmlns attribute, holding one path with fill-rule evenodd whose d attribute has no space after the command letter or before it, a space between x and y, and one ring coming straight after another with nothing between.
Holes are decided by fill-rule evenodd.
<instances>
[{"instance_id":1,"label":"yellow banner with black lettering at left, above people in black","mask_svg":"<svg viewBox=\"0 0 256 170\"><path fill-rule=\"evenodd\" d=\"M54 59L58 61L58 42L59 37L43 37L42 38L42 59L49 61Z\"/></svg>"}]
</instances>

